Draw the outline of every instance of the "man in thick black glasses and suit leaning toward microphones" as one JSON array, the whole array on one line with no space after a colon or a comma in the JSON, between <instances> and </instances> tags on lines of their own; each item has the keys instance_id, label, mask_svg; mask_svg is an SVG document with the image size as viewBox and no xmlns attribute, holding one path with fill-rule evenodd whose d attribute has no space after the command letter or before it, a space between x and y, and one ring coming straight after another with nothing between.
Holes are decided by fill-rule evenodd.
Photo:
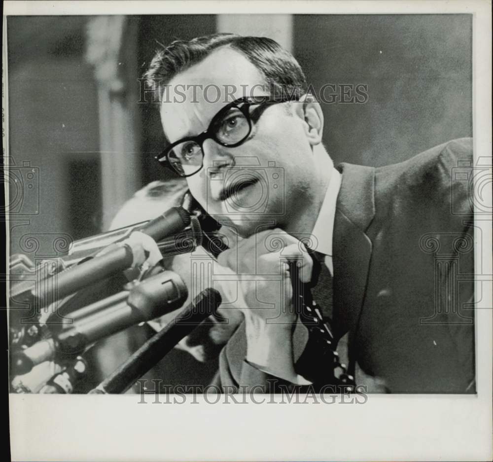
<instances>
[{"instance_id":1,"label":"man in thick black glasses and suit leaning toward microphones","mask_svg":"<svg viewBox=\"0 0 493 462\"><path fill-rule=\"evenodd\" d=\"M176 41L145 76L171 143L161 162L244 238L218 257L237 275L245 317L221 354L223 385L308 384L310 367L330 367L304 364L310 338L292 309L287 262L308 283L313 255L316 288L333 301L325 314L338 338L349 333L351 370L390 392L474 392L472 283L446 285L452 268L472 274L467 188L451 182L472 161L469 140L384 168L335 169L303 71L268 38ZM448 255L439 264L432 239ZM442 309L448 296L454 306Z\"/></svg>"}]
</instances>

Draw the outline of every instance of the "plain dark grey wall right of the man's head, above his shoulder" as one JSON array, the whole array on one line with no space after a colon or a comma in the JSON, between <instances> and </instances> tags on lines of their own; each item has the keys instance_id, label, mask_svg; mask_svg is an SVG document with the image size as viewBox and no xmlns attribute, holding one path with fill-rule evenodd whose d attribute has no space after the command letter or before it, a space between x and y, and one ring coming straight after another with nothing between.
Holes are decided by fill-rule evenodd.
<instances>
[{"instance_id":1,"label":"plain dark grey wall right of the man's head, above his shoulder","mask_svg":"<svg viewBox=\"0 0 493 462\"><path fill-rule=\"evenodd\" d=\"M293 51L315 88L368 85L366 104L322 105L337 164L381 166L472 136L471 15L300 15Z\"/></svg>"}]
</instances>

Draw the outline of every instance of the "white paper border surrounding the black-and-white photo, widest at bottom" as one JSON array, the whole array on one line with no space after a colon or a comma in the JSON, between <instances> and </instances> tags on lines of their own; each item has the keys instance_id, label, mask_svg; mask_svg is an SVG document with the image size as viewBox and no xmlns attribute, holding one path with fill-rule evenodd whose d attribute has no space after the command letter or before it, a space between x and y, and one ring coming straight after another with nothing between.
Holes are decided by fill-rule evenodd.
<instances>
[{"instance_id":1,"label":"white paper border surrounding the black-and-white photo, widest at bottom","mask_svg":"<svg viewBox=\"0 0 493 462\"><path fill-rule=\"evenodd\" d=\"M5 1L3 14L251 12L473 14L474 151L476 158L491 156L490 1ZM5 38L5 17L3 26ZM491 222L476 225L484 239L477 251L489 258L492 274ZM486 309L476 312L477 395L370 395L363 406L242 406L203 399L139 404L137 395L11 394L12 460L491 460L492 294L482 295L478 300Z\"/></svg>"}]
</instances>

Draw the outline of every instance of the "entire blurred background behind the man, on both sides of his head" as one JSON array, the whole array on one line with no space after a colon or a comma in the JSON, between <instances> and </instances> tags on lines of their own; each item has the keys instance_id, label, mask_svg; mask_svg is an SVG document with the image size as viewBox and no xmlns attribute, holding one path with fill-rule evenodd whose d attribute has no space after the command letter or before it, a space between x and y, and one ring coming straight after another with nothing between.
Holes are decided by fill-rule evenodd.
<instances>
[{"instance_id":1,"label":"entire blurred background behind the man, on both sides of his head","mask_svg":"<svg viewBox=\"0 0 493 462\"><path fill-rule=\"evenodd\" d=\"M217 31L270 36L316 93L325 84L367 85L365 104L322 103L323 142L336 164L380 166L472 135L471 18L8 17L9 156L18 178L8 178L11 252L60 253L57 236L97 234L141 186L172 177L153 159L165 143L158 110L138 104L138 78L159 43ZM179 369L194 360L174 355L163 370L180 383ZM197 366L185 382L207 381L214 368Z\"/></svg>"}]
</instances>

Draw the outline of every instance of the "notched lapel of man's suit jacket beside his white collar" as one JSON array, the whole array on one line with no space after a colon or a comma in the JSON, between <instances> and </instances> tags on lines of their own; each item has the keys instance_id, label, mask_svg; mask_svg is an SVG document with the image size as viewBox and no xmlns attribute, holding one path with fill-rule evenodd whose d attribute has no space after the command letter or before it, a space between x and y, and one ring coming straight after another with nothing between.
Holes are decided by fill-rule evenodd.
<instances>
[{"instance_id":1,"label":"notched lapel of man's suit jacket beside his white collar","mask_svg":"<svg viewBox=\"0 0 493 462\"><path fill-rule=\"evenodd\" d=\"M336 335L357 329L364 303L372 243L365 231L375 216L375 169L341 164L333 233L334 308Z\"/></svg>"}]
</instances>

